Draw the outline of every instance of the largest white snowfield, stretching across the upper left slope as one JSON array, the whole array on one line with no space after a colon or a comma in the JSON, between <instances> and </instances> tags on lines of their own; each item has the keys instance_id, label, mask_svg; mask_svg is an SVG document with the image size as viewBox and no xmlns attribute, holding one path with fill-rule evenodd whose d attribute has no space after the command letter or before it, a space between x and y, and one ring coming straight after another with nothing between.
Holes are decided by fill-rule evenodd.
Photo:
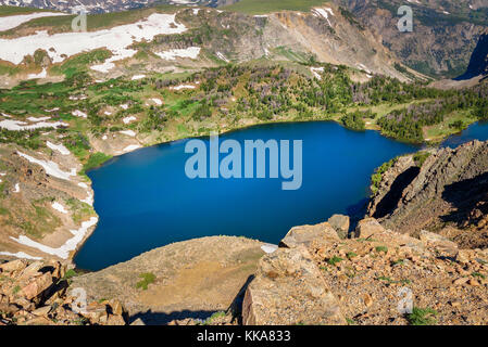
<instances>
[{"instance_id":1,"label":"largest white snowfield, stretching across the upper left slope","mask_svg":"<svg viewBox=\"0 0 488 347\"><path fill-rule=\"evenodd\" d=\"M109 62L111 66L114 61L136 53L135 50L127 49L134 42L150 41L157 35L186 31L185 25L175 23L175 14L153 13L146 20L98 31L49 35L42 30L30 36L0 39L0 47L7 48L0 50L0 60L17 65L24 56L33 55L36 50L41 49L47 51L53 63L60 63L82 52L107 48L113 54Z\"/></svg>"}]
</instances>

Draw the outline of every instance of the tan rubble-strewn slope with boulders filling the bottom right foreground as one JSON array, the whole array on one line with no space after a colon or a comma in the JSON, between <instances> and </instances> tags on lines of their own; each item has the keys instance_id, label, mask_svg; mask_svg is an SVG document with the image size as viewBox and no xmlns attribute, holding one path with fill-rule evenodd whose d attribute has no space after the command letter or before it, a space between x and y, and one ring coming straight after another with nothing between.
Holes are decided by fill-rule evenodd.
<instances>
[{"instance_id":1,"label":"tan rubble-strewn slope with boulders filling the bottom right foreground","mask_svg":"<svg viewBox=\"0 0 488 347\"><path fill-rule=\"evenodd\" d=\"M328 223L301 228L260 260L245 301L245 323L486 324L487 250L420 239L360 221L340 240ZM295 239L295 237L292 237Z\"/></svg>"}]
</instances>

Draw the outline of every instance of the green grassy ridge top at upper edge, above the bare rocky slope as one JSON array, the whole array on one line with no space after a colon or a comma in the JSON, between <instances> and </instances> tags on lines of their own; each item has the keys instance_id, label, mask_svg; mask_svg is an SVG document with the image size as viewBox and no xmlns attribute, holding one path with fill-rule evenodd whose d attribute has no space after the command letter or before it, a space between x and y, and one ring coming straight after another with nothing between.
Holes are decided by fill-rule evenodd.
<instances>
[{"instance_id":1,"label":"green grassy ridge top at upper edge, above the bare rocky slope","mask_svg":"<svg viewBox=\"0 0 488 347\"><path fill-rule=\"evenodd\" d=\"M312 7L318 7L328 2L325 0L241 0L225 10L242 12L247 14L264 14L277 11L310 11Z\"/></svg>"}]
</instances>

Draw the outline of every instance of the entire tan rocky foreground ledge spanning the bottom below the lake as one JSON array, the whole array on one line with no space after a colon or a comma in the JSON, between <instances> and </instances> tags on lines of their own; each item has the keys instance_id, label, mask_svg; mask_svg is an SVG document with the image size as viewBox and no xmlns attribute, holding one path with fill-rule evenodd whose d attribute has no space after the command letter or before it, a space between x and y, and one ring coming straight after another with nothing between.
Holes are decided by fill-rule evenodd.
<instances>
[{"instance_id":1,"label":"entire tan rocky foreground ledge spanning the bottom below the lake","mask_svg":"<svg viewBox=\"0 0 488 347\"><path fill-rule=\"evenodd\" d=\"M57 261L5 262L0 324L488 324L487 249L374 218L349 239L348 229L346 216L296 227L277 249L191 240L82 275ZM75 288L87 292L84 313Z\"/></svg>"}]
</instances>

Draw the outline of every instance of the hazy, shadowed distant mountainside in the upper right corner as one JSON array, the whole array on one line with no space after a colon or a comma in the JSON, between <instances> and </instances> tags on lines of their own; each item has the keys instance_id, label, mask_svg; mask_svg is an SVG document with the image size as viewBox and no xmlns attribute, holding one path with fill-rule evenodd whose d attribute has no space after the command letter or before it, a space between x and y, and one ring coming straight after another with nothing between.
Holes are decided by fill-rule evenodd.
<instances>
[{"instance_id":1,"label":"hazy, shadowed distant mountainside in the upper right corner","mask_svg":"<svg viewBox=\"0 0 488 347\"><path fill-rule=\"evenodd\" d=\"M435 78L466 70L488 26L488 1L335 0L371 28L402 63ZM413 10L413 33L400 33L398 9Z\"/></svg>"}]
</instances>

